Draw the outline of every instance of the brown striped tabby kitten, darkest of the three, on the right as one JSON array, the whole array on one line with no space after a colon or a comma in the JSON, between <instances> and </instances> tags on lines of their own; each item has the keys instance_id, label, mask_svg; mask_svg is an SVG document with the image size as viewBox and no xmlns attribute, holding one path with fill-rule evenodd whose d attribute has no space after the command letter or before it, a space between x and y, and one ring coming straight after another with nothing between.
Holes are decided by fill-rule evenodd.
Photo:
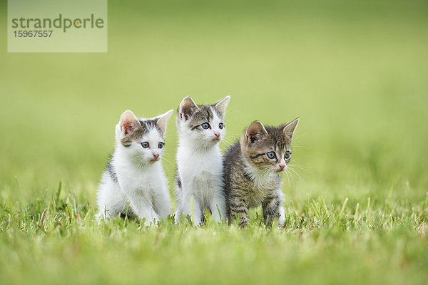
<instances>
[{"instance_id":1,"label":"brown striped tabby kitten, darkest of the three, on the right","mask_svg":"<svg viewBox=\"0 0 428 285\"><path fill-rule=\"evenodd\" d=\"M265 127L259 121L245 129L239 142L224 155L225 193L230 222L248 223L248 209L263 207L263 219L270 225L279 217L285 222L282 206L281 176L291 160L291 142L299 118L277 127Z\"/></svg>"}]
</instances>

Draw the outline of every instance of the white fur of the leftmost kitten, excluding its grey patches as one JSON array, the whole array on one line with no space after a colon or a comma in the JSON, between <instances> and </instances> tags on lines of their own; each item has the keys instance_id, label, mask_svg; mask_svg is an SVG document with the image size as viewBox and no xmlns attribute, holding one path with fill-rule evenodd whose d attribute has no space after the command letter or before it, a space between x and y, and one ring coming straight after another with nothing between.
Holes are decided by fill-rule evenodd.
<instances>
[{"instance_id":1,"label":"white fur of the leftmost kitten, excluding its grey patches","mask_svg":"<svg viewBox=\"0 0 428 285\"><path fill-rule=\"evenodd\" d=\"M161 115L163 127L171 114L172 110ZM133 141L129 147L123 146L121 139L124 136L119 122L116 125L116 150L111 160L118 183L113 181L108 171L104 172L98 190L98 215L112 219L117 214L126 213L129 204L130 214L145 219L146 225L156 223L170 213L168 182L160 159L153 161L153 155L163 153L164 148L158 147L163 138L158 130L152 129L141 138L141 142L150 145L143 148L140 141Z\"/></svg>"}]
</instances>

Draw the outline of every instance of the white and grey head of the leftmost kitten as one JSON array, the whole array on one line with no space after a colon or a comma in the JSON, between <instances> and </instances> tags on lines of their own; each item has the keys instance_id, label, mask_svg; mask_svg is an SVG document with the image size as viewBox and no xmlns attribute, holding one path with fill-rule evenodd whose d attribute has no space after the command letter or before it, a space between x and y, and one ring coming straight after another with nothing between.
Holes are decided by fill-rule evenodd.
<instances>
[{"instance_id":1,"label":"white and grey head of the leftmost kitten","mask_svg":"<svg viewBox=\"0 0 428 285\"><path fill-rule=\"evenodd\" d=\"M131 110L121 115L116 125L118 147L138 163L153 163L161 159L165 146L166 125L173 110L151 119L138 119Z\"/></svg>"}]
</instances>

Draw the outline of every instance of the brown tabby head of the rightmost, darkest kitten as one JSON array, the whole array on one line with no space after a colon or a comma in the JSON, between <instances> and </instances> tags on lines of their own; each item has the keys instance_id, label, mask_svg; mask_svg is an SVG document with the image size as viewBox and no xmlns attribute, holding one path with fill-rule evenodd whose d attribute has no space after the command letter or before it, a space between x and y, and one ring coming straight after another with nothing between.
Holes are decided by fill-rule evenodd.
<instances>
[{"instance_id":1,"label":"brown tabby head of the rightmost, darkest kitten","mask_svg":"<svg viewBox=\"0 0 428 285\"><path fill-rule=\"evenodd\" d=\"M240 146L245 160L260 170L282 172L291 160L292 135L299 118L277 127L265 127L258 120L245 129Z\"/></svg>"}]
</instances>

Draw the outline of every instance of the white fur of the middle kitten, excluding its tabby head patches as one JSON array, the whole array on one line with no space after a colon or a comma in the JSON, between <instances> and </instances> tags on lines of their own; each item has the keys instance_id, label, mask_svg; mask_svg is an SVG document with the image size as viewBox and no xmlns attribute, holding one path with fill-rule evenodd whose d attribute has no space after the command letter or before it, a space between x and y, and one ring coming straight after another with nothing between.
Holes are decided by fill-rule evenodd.
<instances>
[{"instance_id":1,"label":"white fur of the middle kitten, excluding its tabby head patches","mask_svg":"<svg viewBox=\"0 0 428 285\"><path fill-rule=\"evenodd\" d=\"M223 101L227 100L226 103ZM227 105L229 98L223 99ZM225 106L224 106L225 109ZM185 118L177 120L178 150L177 166L182 188L176 187L177 211L175 221L179 221L181 214L191 216L190 199L193 199L193 223L199 225L203 217L203 210L208 208L215 219L220 222L225 219L225 195L223 190L223 162L218 142L225 135L225 128L218 128L224 123L213 110L211 129L196 131L188 128ZM220 140L215 140L214 133L220 133ZM220 213L219 213L220 211ZM220 218L221 216L221 218Z\"/></svg>"}]
</instances>

